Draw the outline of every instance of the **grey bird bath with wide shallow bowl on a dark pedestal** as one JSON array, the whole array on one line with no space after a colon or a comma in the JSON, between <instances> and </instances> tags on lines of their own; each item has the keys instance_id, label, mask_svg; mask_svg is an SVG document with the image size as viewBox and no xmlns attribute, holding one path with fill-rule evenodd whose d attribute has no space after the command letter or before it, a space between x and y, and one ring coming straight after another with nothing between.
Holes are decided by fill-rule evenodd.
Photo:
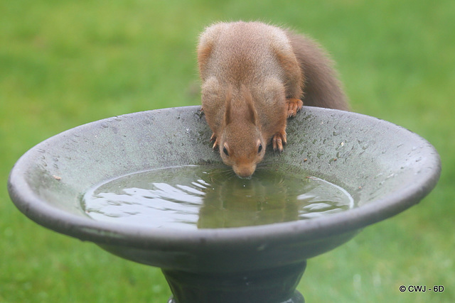
<instances>
[{"instance_id":1,"label":"grey bird bath with wide shallow bowl on a dark pedestal","mask_svg":"<svg viewBox=\"0 0 455 303\"><path fill-rule=\"evenodd\" d=\"M115 183L119 177L144 173L153 179L167 172L169 182L188 185L194 182L179 181L183 174L179 167L203 167L199 174L223 167L218 152L210 148L211 133L200 106L126 114L49 138L16 162L9 176L9 194L23 214L42 226L161 268L173 293L169 302L304 302L295 289L307 259L417 204L436 185L441 166L437 151L423 138L361 114L305 106L289 120L287 133L284 153L267 150L259 177L242 180L252 182L249 197L253 201L260 197L260 203L259 198L231 203L240 207L237 214L245 214L244 204L257 205L251 211L252 226L230 224L237 215L223 212L228 208L221 202L225 193L248 185L240 181L217 183L220 188L213 189L212 196L222 206L218 203L208 220L204 218L209 206L193 208L196 219L188 228L154 224L153 217L135 220L131 211L131 220L120 215L97 219L90 213L87 192L109 182L122 187ZM333 184L348 195L349 202L341 204L341 211L309 217L294 209L290 211L294 219L275 209L273 215L257 221L269 205L264 200L267 190L275 188L261 183L260 174L267 171L277 172L279 179L300 177L301 184L306 180ZM212 188L198 176L203 187ZM232 179L228 167L221 176ZM141 177L136 180L140 183ZM200 184L185 188L191 192L203 188ZM289 210L294 202L285 200L282 204ZM205 204L202 198L196 201Z\"/></svg>"}]
</instances>

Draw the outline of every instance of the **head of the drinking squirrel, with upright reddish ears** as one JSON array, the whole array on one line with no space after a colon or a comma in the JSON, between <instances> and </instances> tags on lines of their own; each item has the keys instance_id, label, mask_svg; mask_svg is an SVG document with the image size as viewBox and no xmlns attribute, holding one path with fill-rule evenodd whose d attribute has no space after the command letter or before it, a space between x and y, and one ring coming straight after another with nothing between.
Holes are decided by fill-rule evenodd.
<instances>
[{"instance_id":1,"label":"head of the drinking squirrel, with upright reddish ears","mask_svg":"<svg viewBox=\"0 0 455 303\"><path fill-rule=\"evenodd\" d=\"M220 138L220 155L226 165L232 166L235 174L251 177L257 163L262 161L267 143L261 127L252 94L245 86L232 99L232 89L226 94L223 133Z\"/></svg>"}]
</instances>

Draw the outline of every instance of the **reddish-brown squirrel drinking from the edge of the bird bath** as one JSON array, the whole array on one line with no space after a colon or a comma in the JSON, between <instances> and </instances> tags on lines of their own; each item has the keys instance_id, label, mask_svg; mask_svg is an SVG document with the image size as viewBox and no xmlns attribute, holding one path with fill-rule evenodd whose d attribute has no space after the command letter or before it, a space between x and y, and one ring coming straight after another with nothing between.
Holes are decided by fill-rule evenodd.
<instances>
[{"instance_id":1,"label":"reddish-brown squirrel drinking from the edge of the bird bath","mask_svg":"<svg viewBox=\"0 0 455 303\"><path fill-rule=\"evenodd\" d=\"M210 141L239 177L252 176L267 143L282 152L287 119L303 104L348 110L331 59L304 35L260 22L215 23L200 34L197 53Z\"/></svg>"}]
</instances>

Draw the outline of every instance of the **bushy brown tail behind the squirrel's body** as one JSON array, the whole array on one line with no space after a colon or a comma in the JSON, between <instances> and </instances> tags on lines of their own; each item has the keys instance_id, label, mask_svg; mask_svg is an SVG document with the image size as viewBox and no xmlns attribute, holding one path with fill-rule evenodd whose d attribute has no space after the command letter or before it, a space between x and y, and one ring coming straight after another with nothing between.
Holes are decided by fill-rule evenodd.
<instances>
[{"instance_id":1,"label":"bushy brown tail behind the squirrel's body","mask_svg":"<svg viewBox=\"0 0 455 303\"><path fill-rule=\"evenodd\" d=\"M304 105L349 110L333 62L313 40L287 31L304 75Z\"/></svg>"}]
</instances>

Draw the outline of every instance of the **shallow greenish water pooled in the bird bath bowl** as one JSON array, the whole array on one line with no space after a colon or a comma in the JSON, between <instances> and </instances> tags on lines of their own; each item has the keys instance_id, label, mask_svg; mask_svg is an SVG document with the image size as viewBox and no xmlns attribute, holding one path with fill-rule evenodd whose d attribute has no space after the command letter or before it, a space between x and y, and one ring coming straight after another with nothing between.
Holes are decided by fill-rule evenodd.
<instances>
[{"instance_id":1,"label":"shallow greenish water pooled in the bird bath bowl","mask_svg":"<svg viewBox=\"0 0 455 303\"><path fill-rule=\"evenodd\" d=\"M259 167L246 180L214 165L126 175L92 187L81 203L99 221L186 229L311 219L354 206L345 189L304 172Z\"/></svg>"}]
</instances>

